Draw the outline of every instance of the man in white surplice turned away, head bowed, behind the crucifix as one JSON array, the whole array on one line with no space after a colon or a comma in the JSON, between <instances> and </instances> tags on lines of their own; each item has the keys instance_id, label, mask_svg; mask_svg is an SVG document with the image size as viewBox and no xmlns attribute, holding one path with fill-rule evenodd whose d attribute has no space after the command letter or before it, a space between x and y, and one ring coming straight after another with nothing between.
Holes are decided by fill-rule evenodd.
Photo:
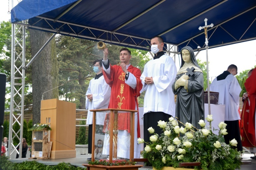
<instances>
[{"instance_id":1,"label":"man in white surplice turned away, head bowed, behind the crucifix","mask_svg":"<svg viewBox=\"0 0 256 170\"><path fill-rule=\"evenodd\" d=\"M237 150L242 151L242 143L239 131L240 115L239 108L239 95L241 87L234 75L237 74L237 66L231 64L228 66L227 71L218 75L210 85L210 91L219 92L219 104L225 104L225 123L227 124L227 135L224 135L225 142L236 139Z\"/></svg>"}]
</instances>

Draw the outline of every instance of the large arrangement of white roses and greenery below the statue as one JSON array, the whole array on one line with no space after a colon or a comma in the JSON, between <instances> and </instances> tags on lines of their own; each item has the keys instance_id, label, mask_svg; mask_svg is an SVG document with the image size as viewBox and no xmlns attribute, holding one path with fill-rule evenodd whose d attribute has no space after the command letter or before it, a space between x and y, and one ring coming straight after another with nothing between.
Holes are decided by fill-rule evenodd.
<instances>
[{"instance_id":1,"label":"large arrangement of white roses and greenery below the statue","mask_svg":"<svg viewBox=\"0 0 256 170\"><path fill-rule=\"evenodd\" d=\"M213 121L212 115L207 121ZM155 134L152 128L150 142L145 142L146 147L143 157L157 170L163 167L179 167L182 162L200 162L200 166L194 169L236 169L239 168L240 152L233 149L237 145L235 139L229 145L225 143L223 135L226 135L226 124L219 123L219 132L214 134L210 126L205 127L205 122L198 122L202 129L196 130L188 122L178 123L174 118L169 118L169 122L158 121L162 134ZM179 124L183 124L180 127ZM215 131L217 132L217 131ZM138 139L139 143L143 140Z\"/></svg>"}]
</instances>

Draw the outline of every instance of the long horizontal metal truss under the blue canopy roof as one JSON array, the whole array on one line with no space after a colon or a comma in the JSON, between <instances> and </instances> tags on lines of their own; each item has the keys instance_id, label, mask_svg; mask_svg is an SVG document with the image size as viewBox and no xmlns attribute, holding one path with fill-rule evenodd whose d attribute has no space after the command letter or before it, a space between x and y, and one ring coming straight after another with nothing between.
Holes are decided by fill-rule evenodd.
<instances>
[{"instance_id":1,"label":"long horizontal metal truss under the blue canopy roof","mask_svg":"<svg viewBox=\"0 0 256 170\"><path fill-rule=\"evenodd\" d=\"M112 32L112 31L103 30L103 29L97 29L97 28L93 28L93 27L82 26L82 25L79 25L79 24L64 22L64 21L45 18L45 17L40 17L40 16L37 16L36 18L38 18L39 20L37 22L35 22L33 25L26 24L26 23L23 23L23 22L16 22L16 24L26 26L26 27L31 28L31 29L37 29L37 30L52 32L52 33L55 33L55 34L73 36L73 37L77 37L77 38L84 38L84 39L90 39L90 40L96 40L96 41L104 41L105 43L110 43L110 44L119 45L119 46L122 46L122 45L131 46L131 47L134 47L134 48L139 48L139 49L144 49L144 50L149 50L150 49L150 39L147 39L147 38L142 38L142 37L133 36L133 35L127 35L127 34L123 34L123 33ZM36 24L39 23L39 22L47 23L47 26L46 26L47 28L46 27L41 28L41 27L36 26ZM53 28L54 27L52 25L53 22L58 22L59 24L60 23L61 24L57 28ZM74 29L72 29L73 26L80 27L82 29L82 31L80 31L80 32L74 31ZM70 28L71 32L62 31L63 27ZM89 32L90 36L85 35L84 34L85 31ZM94 32L100 32L100 34L96 35ZM118 38L120 36L122 36L123 40L120 40L120 38ZM126 41L128 39L129 39L129 43L127 43L127 41ZM139 43L138 43L138 41L139 41ZM168 53L177 54L177 52L173 48L176 45L174 45L174 44L169 44L169 45L171 46L171 48L169 48L169 50L168 50L168 48L165 47L164 51L168 52Z\"/></svg>"}]
</instances>

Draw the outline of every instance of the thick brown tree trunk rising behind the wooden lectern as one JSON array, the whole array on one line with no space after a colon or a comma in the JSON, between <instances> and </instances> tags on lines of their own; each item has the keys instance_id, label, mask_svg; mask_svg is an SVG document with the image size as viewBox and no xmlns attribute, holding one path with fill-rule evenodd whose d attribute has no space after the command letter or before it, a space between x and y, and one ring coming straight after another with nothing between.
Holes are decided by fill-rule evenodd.
<instances>
[{"instance_id":1,"label":"thick brown tree trunk rising behind the wooden lectern","mask_svg":"<svg viewBox=\"0 0 256 170\"><path fill-rule=\"evenodd\" d=\"M30 29L31 56L33 57L51 37L51 33ZM40 123L41 99L44 92L58 86L59 65L55 38L32 63L33 124ZM43 99L58 98L58 88L48 91Z\"/></svg>"}]
</instances>

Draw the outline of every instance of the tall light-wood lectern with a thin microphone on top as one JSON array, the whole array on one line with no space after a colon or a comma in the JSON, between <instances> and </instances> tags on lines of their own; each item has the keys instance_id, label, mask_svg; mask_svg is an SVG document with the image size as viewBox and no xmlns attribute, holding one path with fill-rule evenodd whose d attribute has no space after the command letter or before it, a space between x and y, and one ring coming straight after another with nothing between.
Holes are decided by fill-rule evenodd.
<instances>
[{"instance_id":1,"label":"tall light-wood lectern with a thin microphone on top","mask_svg":"<svg viewBox=\"0 0 256 170\"><path fill-rule=\"evenodd\" d=\"M75 103L49 99L41 101L41 123L52 128L51 158L74 158L75 151Z\"/></svg>"}]
</instances>

